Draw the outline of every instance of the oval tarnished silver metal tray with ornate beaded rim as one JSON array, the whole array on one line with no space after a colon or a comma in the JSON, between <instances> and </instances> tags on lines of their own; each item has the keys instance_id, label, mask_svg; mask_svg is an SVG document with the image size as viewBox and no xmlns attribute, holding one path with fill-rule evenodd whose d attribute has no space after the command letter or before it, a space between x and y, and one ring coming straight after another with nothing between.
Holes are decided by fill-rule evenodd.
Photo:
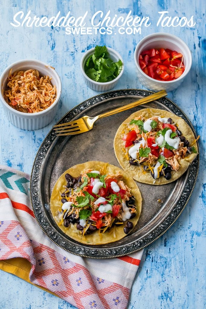
<instances>
[{"instance_id":1,"label":"oval tarnished silver metal tray with ornate beaded rim","mask_svg":"<svg viewBox=\"0 0 206 309\"><path fill-rule=\"evenodd\" d=\"M58 124L83 115L96 116L151 93L153 92L141 89L124 89L96 95L71 109ZM49 201L58 177L69 167L91 160L119 166L113 150L116 130L130 114L146 107L173 112L182 117L194 132L184 112L170 99L162 98L98 120L89 132L56 137L52 129L44 139L32 167L31 202L40 227L61 248L91 258L111 258L130 254L148 246L165 233L187 205L197 179L199 156L182 177L170 184L153 186L137 183L143 199L141 216L132 233L119 241L98 246L81 244L65 235L53 219ZM158 199L162 202L158 203Z\"/></svg>"}]
</instances>

